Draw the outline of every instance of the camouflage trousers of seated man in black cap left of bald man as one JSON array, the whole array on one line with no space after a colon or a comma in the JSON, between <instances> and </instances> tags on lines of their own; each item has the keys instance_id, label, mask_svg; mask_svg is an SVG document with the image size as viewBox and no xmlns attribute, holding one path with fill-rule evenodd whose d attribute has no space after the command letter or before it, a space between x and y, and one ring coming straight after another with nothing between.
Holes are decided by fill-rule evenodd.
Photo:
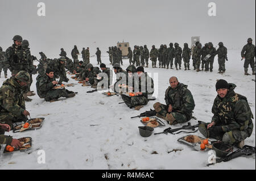
<instances>
[{"instance_id":1,"label":"camouflage trousers of seated man in black cap left of bald man","mask_svg":"<svg viewBox=\"0 0 256 181\"><path fill-rule=\"evenodd\" d=\"M146 105L148 103L148 99L146 98L146 96L126 96L121 94L123 102L125 102L125 104L130 107L136 107L136 106L141 106L141 105Z\"/></svg>"}]
</instances>

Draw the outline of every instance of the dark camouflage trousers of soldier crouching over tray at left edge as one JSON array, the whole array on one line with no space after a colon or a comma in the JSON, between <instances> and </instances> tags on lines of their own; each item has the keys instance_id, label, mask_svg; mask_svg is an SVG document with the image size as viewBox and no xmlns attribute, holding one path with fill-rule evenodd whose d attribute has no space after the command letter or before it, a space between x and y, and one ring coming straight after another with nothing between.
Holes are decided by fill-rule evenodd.
<instances>
[{"instance_id":1,"label":"dark camouflage trousers of soldier crouching over tray at left edge","mask_svg":"<svg viewBox=\"0 0 256 181\"><path fill-rule=\"evenodd\" d=\"M10 125L13 129L15 122L27 121L24 115L14 115L11 112L0 112L0 123Z\"/></svg>"}]
</instances>

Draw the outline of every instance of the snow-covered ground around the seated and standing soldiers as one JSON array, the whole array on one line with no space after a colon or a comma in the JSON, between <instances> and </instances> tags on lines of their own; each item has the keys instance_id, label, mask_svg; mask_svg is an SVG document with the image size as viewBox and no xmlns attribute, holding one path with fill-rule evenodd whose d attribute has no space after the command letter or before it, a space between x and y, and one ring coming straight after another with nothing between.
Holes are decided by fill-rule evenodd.
<instances>
[{"instance_id":1,"label":"snow-covered ground around the seated and standing soldiers","mask_svg":"<svg viewBox=\"0 0 256 181\"><path fill-rule=\"evenodd\" d=\"M193 116L197 120L209 122L212 117L212 104L217 95L216 79L226 79L236 83L235 91L247 97L251 111L255 117L255 75L243 75L243 61L240 50L228 51L229 61L226 62L226 73L218 74L217 57L213 72L196 72L174 69L144 68L150 73L158 73L158 96L141 110L131 110L123 102L121 96L107 97L99 92L86 93L90 87L75 85L68 90L77 91L74 98L62 99L58 102L45 102L38 95L32 96L32 102L26 102L31 117L45 117L43 127L36 131L22 133L6 133L14 138L32 137L32 148L24 152L3 154L0 151L0 169L255 169L255 155L248 158L240 157L229 162L217 163L207 167L209 154L207 151L195 151L177 141L188 133L152 134L144 138L139 134L142 126L139 118L130 119L139 113L153 108L155 102L164 102L164 92L169 86L168 79L176 76L179 82L188 85L195 100ZM92 57L93 65L97 64ZM108 56L102 62L109 66ZM123 69L129 60L123 60ZM191 60L192 63L192 60ZM249 68L251 74L251 69ZM10 72L8 73L10 76ZM36 76L31 90L36 92ZM68 77L71 77L68 75ZM5 81L2 77L0 83ZM69 83L77 83L69 78ZM196 120L189 121L197 124ZM166 121L164 121L166 123ZM255 126L255 119L253 120ZM181 127L181 124L171 126ZM162 132L170 127L155 128L154 133ZM203 137L200 132L193 133ZM251 137L245 140L246 145L255 146L255 127ZM46 153L46 163L39 164L38 150ZM177 150L177 151L174 151ZM152 154L154 151L158 154Z\"/></svg>"}]
</instances>

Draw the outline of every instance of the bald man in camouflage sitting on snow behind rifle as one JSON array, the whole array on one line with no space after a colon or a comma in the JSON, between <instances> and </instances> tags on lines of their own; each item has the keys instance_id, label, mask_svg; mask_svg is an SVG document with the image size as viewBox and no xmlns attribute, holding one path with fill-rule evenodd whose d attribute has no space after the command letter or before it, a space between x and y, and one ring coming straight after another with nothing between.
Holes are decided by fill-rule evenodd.
<instances>
[{"instance_id":1,"label":"bald man in camouflage sitting on snow behind rifle","mask_svg":"<svg viewBox=\"0 0 256 181\"><path fill-rule=\"evenodd\" d=\"M156 116L166 120L170 125L189 121L192 118L195 102L187 87L179 83L176 77L171 77L164 98L166 105L159 102L154 104Z\"/></svg>"}]
</instances>

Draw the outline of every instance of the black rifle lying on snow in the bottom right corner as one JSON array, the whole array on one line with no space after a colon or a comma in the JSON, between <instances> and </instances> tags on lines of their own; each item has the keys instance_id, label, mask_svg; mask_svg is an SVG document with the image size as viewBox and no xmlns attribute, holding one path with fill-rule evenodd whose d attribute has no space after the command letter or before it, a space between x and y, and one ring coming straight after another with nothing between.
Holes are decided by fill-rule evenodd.
<instances>
[{"instance_id":1,"label":"black rifle lying on snow in the bottom right corner","mask_svg":"<svg viewBox=\"0 0 256 181\"><path fill-rule=\"evenodd\" d=\"M255 154L255 147L245 145L245 146L243 146L243 148L238 149L238 150L234 151L233 153L230 153L229 155L227 155L224 158L220 158L220 159L217 158L216 163L228 162L228 161L230 161L234 158L240 157L242 155L246 155L246 157L247 157L248 155L251 155L251 154ZM207 166L214 165L214 164L215 163L209 163L209 164L207 164Z\"/></svg>"}]
</instances>

